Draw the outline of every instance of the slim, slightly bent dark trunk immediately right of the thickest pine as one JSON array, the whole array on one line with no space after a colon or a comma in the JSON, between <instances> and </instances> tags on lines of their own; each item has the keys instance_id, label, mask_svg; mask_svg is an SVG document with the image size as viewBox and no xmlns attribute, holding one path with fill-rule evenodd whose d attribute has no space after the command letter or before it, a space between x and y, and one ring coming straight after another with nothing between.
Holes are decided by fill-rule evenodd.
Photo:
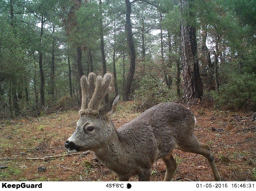
<instances>
[{"instance_id":1,"label":"slim, slightly bent dark trunk immediately right of the thickest pine","mask_svg":"<svg viewBox=\"0 0 256 191\"><path fill-rule=\"evenodd\" d=\"M206 80L206 87L208 90L214 90L215 89L215 80L214 80L214 64L212 64L211 55L209 52L209 49L206 46L206 38L207 38L207 25L202 26L202 53L203 53L203 59L202 62L204 65L207 66L207 80Z\"/></svg>"}]
</instances>

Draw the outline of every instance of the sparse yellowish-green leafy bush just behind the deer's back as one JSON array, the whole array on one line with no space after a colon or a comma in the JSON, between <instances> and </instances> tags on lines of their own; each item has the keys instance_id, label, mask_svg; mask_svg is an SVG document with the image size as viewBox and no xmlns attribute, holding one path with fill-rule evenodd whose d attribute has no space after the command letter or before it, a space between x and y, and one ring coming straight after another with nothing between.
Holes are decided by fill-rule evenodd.
<instances>
[{"instance_id":1,"label":"sparse yellowish-green leafy bush just behind the deer's back","mask_svg":"<svg viewBox=\"0 0 256 191\"><path fill-rule=\"evenodd\" d=\"M138 85L139 88L134 92L138 110L145 110L158 103L171 102L177 99L176 92L168 89L166 84L159 78L154 79L149 75L145 75Z\"/></svg>"}]
</instances>

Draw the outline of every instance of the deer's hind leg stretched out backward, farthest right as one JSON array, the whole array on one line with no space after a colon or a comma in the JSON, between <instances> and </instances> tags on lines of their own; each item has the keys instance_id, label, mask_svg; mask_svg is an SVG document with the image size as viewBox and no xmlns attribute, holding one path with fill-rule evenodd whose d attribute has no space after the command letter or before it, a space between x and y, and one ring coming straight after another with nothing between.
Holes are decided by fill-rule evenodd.
<instances>
[{"instance_id":1,"label":"deer's hind leg stretched out backward, farthest right","mask_svg":"<svg viewBox=\"0 0 256 191\"><path fill-rule=\"evenodd\" d=\"M214 155L211 152L211 148L207 144L200 143L197 138L193 135L191 139L186 138L186 145L179 145L181 151L201 154L207 158L215 181L221 181L220 174L214 162Z\"/></svg>"}]
</instances>

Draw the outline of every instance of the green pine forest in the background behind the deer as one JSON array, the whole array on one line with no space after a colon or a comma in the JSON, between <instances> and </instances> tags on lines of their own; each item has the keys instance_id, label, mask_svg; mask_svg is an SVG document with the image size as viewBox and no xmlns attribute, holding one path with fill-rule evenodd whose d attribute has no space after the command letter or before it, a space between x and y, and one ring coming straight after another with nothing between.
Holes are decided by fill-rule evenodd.
<instances>
[{"instance_id":1,"label":"green pine forest in the background behind the deer","mask_svg":"<svg viewBox=\"0 0 256 191\"><path fill-rule=\"evenodd\" d=\"M256 109L254 0L0 3L0 118L79 108L89 72L112 73L111 94L140 110Z\"/></svg>"}]
</instances>

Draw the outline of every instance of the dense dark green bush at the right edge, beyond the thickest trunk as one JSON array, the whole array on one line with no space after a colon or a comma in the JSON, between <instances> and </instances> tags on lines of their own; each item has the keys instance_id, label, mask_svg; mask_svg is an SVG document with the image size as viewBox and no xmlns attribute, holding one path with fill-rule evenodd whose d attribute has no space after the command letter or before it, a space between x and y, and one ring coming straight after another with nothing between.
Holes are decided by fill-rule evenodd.
<instances>
[{"instance_id":1,"label":"dense dark green bush at the right edge, beyond the thickest trunk","mask_svg":"<svg viewBox=\"0 0 256 191\"><path fill-rule=\"evenodd\" d=\"M226 110L256 109L256 75L229 73L219 91L211 91L215 106Z\"/></svg>"}]
</instances>

